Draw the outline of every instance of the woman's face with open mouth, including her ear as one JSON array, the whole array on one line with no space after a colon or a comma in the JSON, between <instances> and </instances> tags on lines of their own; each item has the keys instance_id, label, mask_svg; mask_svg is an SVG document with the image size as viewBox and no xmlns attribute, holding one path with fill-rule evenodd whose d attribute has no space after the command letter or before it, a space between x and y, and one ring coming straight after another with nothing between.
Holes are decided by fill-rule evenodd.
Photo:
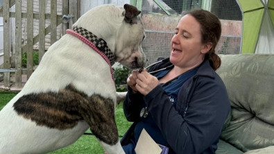
<instances>
[{"instance_id":1,"label":"woman's face with open mouth, including her ear","mask_svg":"<svg viewBox=\"0 0 274 154\"><path fill-rule=\"evenodd\" d=\"M200 65L212 47L211 43L202 44L201 40L200 23L191 15L183 16L171 40L170 60L173 65L182 68Z\"/></svg>"}]
</instances>

